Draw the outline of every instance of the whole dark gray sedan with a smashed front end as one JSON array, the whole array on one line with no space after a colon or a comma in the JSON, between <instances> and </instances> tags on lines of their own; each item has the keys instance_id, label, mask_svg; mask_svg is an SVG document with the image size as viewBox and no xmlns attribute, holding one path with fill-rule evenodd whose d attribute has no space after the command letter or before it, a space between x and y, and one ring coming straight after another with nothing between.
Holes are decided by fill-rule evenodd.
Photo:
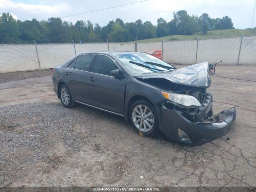
<instances>
[{"instance_id":1,"label":"whole dark gray sedan with a smashed front end","mask_svg":"<svg viewBox=\"0 0 256 192\"><path fill-rule=\"evenodd\" d=\"M150 54L83 53L54 68L54 92L64 107L80 103L130 121L146 135L200 145L224 136L236 108L213 116L208 62L176 69Z\"/></svg>"}]
</instances>

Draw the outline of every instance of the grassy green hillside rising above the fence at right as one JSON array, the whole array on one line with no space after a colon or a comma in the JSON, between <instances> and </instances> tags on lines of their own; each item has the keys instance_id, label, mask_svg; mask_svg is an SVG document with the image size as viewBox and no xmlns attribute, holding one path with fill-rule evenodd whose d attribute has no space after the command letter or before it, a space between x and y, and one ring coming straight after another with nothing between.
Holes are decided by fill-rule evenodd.
<instances>
[{"instance_id":1,"label":"grassy green hillside rising above the fence at right","mask_svg":"<svg viewBox=\"0 0 256 192\"><path fill-rule=\"evenodd\" d=\"M197 39L210 39L210 38L220 38L220 37L237 37L242 36L256 36L256 29L226 29L226 30L214 30L208 31L205 35L195 33L193 35L170 35L165 37L151 38L138 40L137 42L152 42L152 41L170 41L170 40L192 40Z\"/></svg>"}]
</instances>

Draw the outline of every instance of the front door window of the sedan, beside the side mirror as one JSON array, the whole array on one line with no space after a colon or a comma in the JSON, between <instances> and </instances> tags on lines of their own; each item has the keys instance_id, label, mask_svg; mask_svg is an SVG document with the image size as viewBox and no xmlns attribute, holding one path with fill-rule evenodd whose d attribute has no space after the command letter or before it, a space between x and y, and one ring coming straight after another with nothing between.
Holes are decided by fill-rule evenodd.
<instances>
[{"instance_id":1,"label":"front door window of the sedan, beside the side mirror","mask_svg":"<svg viewBox=\"0 0 256 192\"><path fill-rule=\"evenodd\" d=\"M110 72L116 69L118 66L108 56L96 55L92 72L111 76Z\"/></svg>"}]
</instances>

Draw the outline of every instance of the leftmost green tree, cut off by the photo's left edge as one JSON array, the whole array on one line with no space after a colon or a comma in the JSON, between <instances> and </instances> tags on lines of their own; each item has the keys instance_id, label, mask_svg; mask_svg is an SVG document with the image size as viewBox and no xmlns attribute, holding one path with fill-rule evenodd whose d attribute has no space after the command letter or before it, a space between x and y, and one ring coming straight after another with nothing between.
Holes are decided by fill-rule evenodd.
<instances>
[{"instance_id":1,"label":"leftmost green tree, cut off by the photo's left edge","mask_svg":"<svg viewBox=\"0 0 256 192\"><path fill-rule=\"evenodd\" d=\"M2 13L0 16L0 43L18 43L19 39L18 22L9 13Z\"/></svg>"}]
</instances>

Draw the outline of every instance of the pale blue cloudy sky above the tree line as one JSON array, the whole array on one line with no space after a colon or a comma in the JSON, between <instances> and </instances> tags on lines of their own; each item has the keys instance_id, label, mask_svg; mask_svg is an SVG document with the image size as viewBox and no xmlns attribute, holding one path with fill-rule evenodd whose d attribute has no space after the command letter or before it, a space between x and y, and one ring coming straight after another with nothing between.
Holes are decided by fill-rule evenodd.
<instances>
[{"instance_id":1,"label":"pale blue cloudy sky above the tree line","mask_svg":"<svg viewBox=\"0 0 256 192\"><path fill-rule=\"evenodd\" d=\"M18 20L47 20L50 17L63 17L141 0L0 0L0 14L10 12ZM211 18L228 15L235 28L249 28L256 0L148 0L132 5L62 18L75 23L77 20L90 20L105 26L110 20L121 18L124 22L150 21L156 25L162 17L172 20L173 12L186 10L189 15L200 16L208 13ZM252 27L256 26L256 13Z\"/></svg>"}]
</instances>

